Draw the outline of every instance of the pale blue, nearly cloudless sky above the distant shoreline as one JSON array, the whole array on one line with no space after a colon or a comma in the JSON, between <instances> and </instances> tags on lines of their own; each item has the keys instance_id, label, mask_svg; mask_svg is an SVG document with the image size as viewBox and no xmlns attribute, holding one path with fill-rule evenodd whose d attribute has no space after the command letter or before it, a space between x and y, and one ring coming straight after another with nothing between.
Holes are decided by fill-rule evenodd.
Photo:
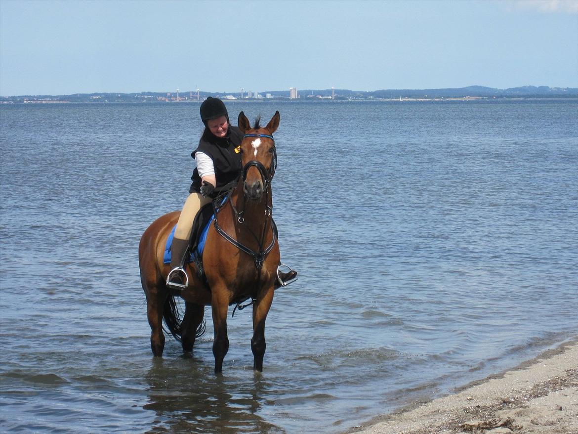
<instances>
[{"instance_id":1,"label":"pale blue, nearly cloudless sky above the distant shoreline","mask_svg":"<svg viewBox=\"0 0 578 434\"><path fill-rule=\"evenodd\" d=\"M0 0L0 95L578 87L578 0Z\"/></svg>"}]
</instances>

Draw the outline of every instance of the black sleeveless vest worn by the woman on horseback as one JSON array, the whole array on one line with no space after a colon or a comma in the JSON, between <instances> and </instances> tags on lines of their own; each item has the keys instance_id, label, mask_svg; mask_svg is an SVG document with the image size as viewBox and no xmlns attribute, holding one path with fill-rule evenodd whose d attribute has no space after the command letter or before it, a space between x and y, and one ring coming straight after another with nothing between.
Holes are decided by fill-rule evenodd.
<instances>
[{"instance_id":1,"label":"black sleeveless vest worn by the woman on horseback","mask_svg":"<svg viewBox=\"0 0 578 434\"><path fill-rule=\"evenodd\" d=\"M191 157L195 158L195 153L205 153L213 160L215 168L215 177L217 185L215 187L221 188L229 182L235 181L240 175L243 167L241 165L241 155L235 152L235 148L241 144L243 140L243 133L238 127L229 126L227 135L223 138L218 138L209 130L203 133L199 146L191 153ZM197 168L192 172L192 184L188 190L189 193L201 192L201 176Z\"/></svg>"}]
</instances>

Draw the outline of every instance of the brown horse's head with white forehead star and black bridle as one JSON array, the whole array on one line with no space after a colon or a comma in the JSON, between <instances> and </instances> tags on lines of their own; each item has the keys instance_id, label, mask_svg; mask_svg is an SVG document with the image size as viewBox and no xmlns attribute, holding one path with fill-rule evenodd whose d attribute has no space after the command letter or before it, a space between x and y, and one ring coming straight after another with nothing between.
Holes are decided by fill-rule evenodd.
<instances>
[{"instance_id":1,"label":"brown horse's head with white forehead star and black bridle","mask_svg":"<svg viewBox=\"0 0 578 434\"><path fill-rule=\"evenodd\" d=\"M243 190L251 200L260 200L269 186L277 166L277 152L273 133L279 127L279 111L275 112L266 127L259 125L260 118L251 127L243 112L239 113L239 128L244 137L239 146L243 164Z\"/></svg>"}]
</instances>

